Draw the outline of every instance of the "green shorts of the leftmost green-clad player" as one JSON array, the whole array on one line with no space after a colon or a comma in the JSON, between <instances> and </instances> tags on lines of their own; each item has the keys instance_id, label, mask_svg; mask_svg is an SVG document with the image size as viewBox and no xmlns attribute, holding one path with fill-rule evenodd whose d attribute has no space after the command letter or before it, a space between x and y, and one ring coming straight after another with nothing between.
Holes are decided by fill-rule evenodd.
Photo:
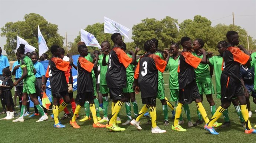
<instances>
[{"instance_id":1,"label":"green shorts of the leftmost green-clad player","mask_svg":"<svg viewBox=\"0 0 256 143\"><path fill-rule=\"evenodd\" d=\"M34 94L36 93L36 77L28 76L23 79L23 91L22 93Z\"/></svg>"}]
</instances>

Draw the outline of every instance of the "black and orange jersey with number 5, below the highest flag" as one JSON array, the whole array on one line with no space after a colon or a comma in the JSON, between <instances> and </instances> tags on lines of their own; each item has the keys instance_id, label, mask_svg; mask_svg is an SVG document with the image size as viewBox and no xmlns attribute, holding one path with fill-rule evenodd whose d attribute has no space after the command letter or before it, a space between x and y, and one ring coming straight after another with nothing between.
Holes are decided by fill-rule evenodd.
<instances>
[{"instance_id":1,"label":"black and orange jersey with number 5, below the highest flag","mask_svg":"<svg viewBox=\"0 0 256 143\"><path fill-rule=\"evenodd\" d=\"M109 52L108 70L106 72L108 88L126 87L126 68L131 62L132 58L119 47L115 47Z\"/></svg>"}]
</instances>

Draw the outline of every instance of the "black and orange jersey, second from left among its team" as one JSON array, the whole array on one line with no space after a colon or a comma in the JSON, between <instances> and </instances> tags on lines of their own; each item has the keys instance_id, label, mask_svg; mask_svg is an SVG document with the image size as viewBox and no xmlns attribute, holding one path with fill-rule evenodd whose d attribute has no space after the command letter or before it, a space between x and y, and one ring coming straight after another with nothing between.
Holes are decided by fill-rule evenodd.
<instances>
[{"instance_id":1,"label":"black and orange jersey, second from left among its team","mask_svg":"<svg viewBox=\"0 0 256 143\"><path fill-rule=\"evenodd\" d=\"M92 69L94 64L86 60L84 57L79 57L77 62L77 93L85 93L93 91Z\"/></svg>"}]
</instances>

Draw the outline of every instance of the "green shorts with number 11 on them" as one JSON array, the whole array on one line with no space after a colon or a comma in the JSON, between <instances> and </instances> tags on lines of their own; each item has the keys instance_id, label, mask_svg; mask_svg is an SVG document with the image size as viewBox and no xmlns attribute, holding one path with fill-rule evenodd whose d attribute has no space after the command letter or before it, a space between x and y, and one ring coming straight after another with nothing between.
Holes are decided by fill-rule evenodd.
<instances>
[{"instance_id":1,"label":"green shorts with number 11 on them","mask_svg":"<svg viewBox=\"0 0 256 143\"><path fill-rule=\"evenodd\" d=\"M213 83L207 82L207 83L199 83L197 82L197 87L199 90L200 95L209 95L209 94L215 94Z\"/></svg>"}]
</instances>

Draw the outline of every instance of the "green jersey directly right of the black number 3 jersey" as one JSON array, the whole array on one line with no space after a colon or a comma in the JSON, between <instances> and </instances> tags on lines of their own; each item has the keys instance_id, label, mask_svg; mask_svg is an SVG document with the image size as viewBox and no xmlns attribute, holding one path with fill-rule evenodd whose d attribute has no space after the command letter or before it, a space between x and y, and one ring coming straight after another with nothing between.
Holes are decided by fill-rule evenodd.
<instances>
[{"instance_id":1,"label":"green jersey directly right of the black number 3 jersey","mask_svg":"<svg viewBox=\"0 0 256 143\"><path fill-rule=\"evenodd\" d=\"M178 82L178 66L179 66L179 58L176 60L173 59L171 56L169 58L169 62L165 67L165 71L169 70L170 77L169 77L169 88L170 89L179 89L179 82Z\"/></svg>"}]
</instances>

